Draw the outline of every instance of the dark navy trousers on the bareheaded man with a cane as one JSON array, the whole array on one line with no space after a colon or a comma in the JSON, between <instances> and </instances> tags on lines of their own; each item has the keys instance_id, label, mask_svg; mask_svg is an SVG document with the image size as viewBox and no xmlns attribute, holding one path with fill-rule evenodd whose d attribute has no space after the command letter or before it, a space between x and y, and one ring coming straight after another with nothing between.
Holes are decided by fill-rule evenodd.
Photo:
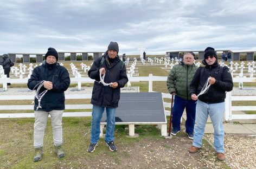
<instances>
[{"instance_id":1,"label":"dark navy trousers on the bareheaded man with a cane","mask_svg":"<svg viewBox=\"0 0 256 169\"><path fill-rule=\"evenodd\" d=\"M183 114L184 108L186 109L187 113L187 120L185 122L186 132L193 133L196 115L196 101L184 100L177 95L175 95L174 107L172 109L172 128L174 130L180 131L181 116Z\"/></svg>"}]
</instances>

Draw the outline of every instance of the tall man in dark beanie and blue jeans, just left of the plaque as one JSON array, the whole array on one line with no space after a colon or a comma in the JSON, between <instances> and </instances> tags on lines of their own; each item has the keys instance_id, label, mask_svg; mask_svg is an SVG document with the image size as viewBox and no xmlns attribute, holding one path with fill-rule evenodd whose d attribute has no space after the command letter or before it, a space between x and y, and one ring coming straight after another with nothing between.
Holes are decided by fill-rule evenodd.
<instances>
[{"instance_id":1,"label":"tall man in dark beanie and blue jeans, just left of the plaque","mask_svg":"<svg viewBox=\"0 0 256 169\"><path fill-rule=\"evenodd\" d=\"M91 144L87 151L93 152L98 146L100 120L106 108L107 126L105 142L110 151L117 151L114 144L116 108L120 99L120 88L128 81L126 67L118 56L118 43L110 42L107 51L92 64L88 75L94 79L92 99Z\"/></svg>"}]
</instances>

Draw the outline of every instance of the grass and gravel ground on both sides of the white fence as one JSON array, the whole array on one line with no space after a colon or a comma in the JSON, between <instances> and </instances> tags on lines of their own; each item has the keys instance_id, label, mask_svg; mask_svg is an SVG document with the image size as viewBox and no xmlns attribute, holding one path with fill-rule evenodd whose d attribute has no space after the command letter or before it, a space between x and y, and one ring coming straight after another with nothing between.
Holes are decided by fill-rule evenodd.
<instances>
[{"instance_id":1,"label":"grass and gravel ground on both sides of the white fence","mask_svg":"<svg viewBox=\"0 0 256 169\"><path fill-rule=\"evenodd\" d=\"M69 62L70 63L70 62ZM69 67L65 63L65 67ZM75 62L77 67L81 62ZM164 67L164 66L162 66ZM139 76L167 76L169 71L161 66L138 66ZM238 84L234 84L238 87ZM83 83L82 87L92 86ZM139 86L140 92L148 92L147 82L133 82L132 86ZM244 83L244 86L255 86ZM0 87L2 87L0 85ZM26 87L13 84L9 87ZM71 84L75 87L75 84ZM168 93L165 82L153 82L153 91ZM80 100L81 101L81 100ZM165 99L165 102L170 100ZM78 100L66 100L68 104L78 104ZM89 103L82 100L80 104ZM256 105L253 101L232 102L236 106ZM28 100L0 101L0 105L29 105ZM72 111L72 110L70 110ZM72 112L91 111L85 109ZM31 111L0 111L0 113L27 113ZM255 114L255 111L248 112ZM167 116L167 119L169 117ZM117 152L110 152L105 146L103 138L93 153L87 152L90 138L90 117L63 118L63 147L66 157L57 159L53 150L52 128L48 121L44 136L44 155L39 163L33 162L33 118L0 119L0 168L250 168L248 158L255 157L255 137L249 135L225 135L225 149L227 160L218 161L212 147L212 135L203 139L200 153L188 153L192 141L187 138L184 131L171 139L161 137L161 131L153 125L136 125L135 133L138 138L129 138L127 125L117 125L115 131ZM239 123L239 122L234 122ZM168 121L169 124L169 121ZM184 129L184 124L182 125ZM208 142L208 141L209 142ZM247 144L241 145L243 142ZM249 142L248 142L249 141ZM238 145L239 147L236 147ZM253 148L254 147L254 148ZM234 152L235 150L235 152ZM250 151L251 150L251 151ZM255 166L254 166L255 167ZM251 167L253 168L253 167Z\"/></svg>"}]
</instances>

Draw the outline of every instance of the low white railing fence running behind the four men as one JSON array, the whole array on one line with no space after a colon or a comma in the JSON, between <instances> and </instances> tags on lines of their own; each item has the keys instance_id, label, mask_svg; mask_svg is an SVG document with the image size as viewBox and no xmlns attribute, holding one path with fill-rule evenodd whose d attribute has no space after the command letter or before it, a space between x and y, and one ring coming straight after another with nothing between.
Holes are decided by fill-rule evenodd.
<instances>
[{"instance_id":1,"label":"low white railing fence running behind the four men","mask_svg":"<svg viewBox=\"0 0 256 169\"><path fill-rule=\"evenodd\" d=\"M1 79L0 83L27 83L28 79ZM167 76L139 76L129 77L130 82L148 81L149 92L153 92L153 81L167 81ZM256 77L233 77L233 82L256 82ZM93 83L94 80L89 77L71 78L72 83ZM163 93L163 98L171 99L169 93ZM65 95L66 99L91 99L91 94ZM0 95L0 100L34 100L34 95ZM232 101L256 101L255 96L232 96L231 92L227 92L225 99L225 120L236 119L256 119L255 114L232 114L232 111L255 111L256 106L232 106ZM91 109L92 105L65 105L66 109ZM165 108L170 108L171 104L164 102ZM33 105L3 105L0 110L32 110ZM170 115L170 111L165 111L166 115ZM64 113L63 116L91 116L91 112L70 112ZM34 113L1 113L0 118L24 118L34 117Z\"/></svg>"}]
</instances>

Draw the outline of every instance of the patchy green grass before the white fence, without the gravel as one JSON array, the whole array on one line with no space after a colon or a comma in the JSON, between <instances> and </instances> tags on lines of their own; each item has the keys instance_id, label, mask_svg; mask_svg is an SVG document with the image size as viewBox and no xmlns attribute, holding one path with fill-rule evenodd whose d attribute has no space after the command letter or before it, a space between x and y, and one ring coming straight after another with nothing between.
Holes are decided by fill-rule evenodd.
<instances>
[{"instance_id":1,"label":"patchy green grass before the white fence, without the gravel","mask_svg":"<svg viewBox=\"0 0 256 169\"><path fill-rule=\"evenodd\" d=\"M150 142L168 141L161 137L161 133L155 125L136 125L135 132L139 134L137 138L127 137L129 133L128 125L117 125L114 133L115 141L119 146L117 152L110 152L104 144L104 139L100 138L97 150L93 153L87 153L86 150L91 136L91 117L63 118L63 148L66 152L66 157L58 159L53 152L52 127L49 118L44 135L43 159L38 163L34 163L32 160L34 155L34 119L1 119L1 122L5 125L0 126L0 168L96 168L97 164L101 164L100 160L112 161L112 163L116 163L120 167L123 166L124 160L129 161L134 158L132 152L136 150L132 152L126 151L130 150L130 146L136 144L142 147L146 146L141 143L146 140L150 140ZM179 133L174 139L180 140L179 138L186 138L185 133ZM175 142L171 141L171 144L168 142L167 144L162 144L163 147L171 149L172 146L175 146ZM203 143L203 148L211 148L207 142ZM153 148L148 151L150 153L156 152ZM211 152L209 157L207 156L206 158L215 158L213 148ZM200 160L195 157L194 159ZM220 165L219 161L215 163ZM221 166L223 166L222 168L228 168L225 163L221 163ZM125 166L123 167L125 168Z\"/></svg>"}]
</instances>

